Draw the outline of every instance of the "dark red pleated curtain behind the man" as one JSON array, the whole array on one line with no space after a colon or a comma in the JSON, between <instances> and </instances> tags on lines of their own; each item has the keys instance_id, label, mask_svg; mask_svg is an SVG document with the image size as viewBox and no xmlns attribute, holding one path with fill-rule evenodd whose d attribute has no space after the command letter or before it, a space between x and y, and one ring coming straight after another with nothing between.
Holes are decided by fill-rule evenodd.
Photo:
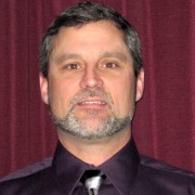
<instances>
[{"instance_id":1,"label":"dark red pleated curtain behind the man","mask_svg":"<svg viewBox=\"0 0 195 195\"><path fill-rule=\"evenodd\" d=\"M52 156L56 130L39 92L39 46L79 0L1 0L0 177ZM145 92L133 136L142 154L195 171L195 1L99 0L139 31Z\"/></svg>"}]
</instances>

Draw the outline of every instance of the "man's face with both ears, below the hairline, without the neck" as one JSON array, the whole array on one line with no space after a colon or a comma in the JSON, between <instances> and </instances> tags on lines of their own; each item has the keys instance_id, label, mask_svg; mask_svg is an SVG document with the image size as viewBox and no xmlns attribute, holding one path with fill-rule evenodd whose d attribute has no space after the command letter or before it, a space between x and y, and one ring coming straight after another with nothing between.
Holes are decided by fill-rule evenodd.
<instances>
[{"instance_id":1,"label":"man's face with both ears, below the hairline, without the neck","mask_svg":"<svg viewBox=\"0 0 195 195\"><path fill-rule=\"evenodd\" d=\"M121 31L102 21L60 30L48 79L41 76L40 86L55 120L90 133L105 122L116 118L123 122L132 116L134 102L143 92L143 72L135 80Z\"/></svg>"}]
</instances>

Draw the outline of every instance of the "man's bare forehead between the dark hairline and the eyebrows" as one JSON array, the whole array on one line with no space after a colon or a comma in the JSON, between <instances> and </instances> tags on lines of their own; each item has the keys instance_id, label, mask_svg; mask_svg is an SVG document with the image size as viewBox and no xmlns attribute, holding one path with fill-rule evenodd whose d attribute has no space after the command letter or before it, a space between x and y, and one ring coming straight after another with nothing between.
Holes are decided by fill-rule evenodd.
<instances>
[{"instance_id":1,"label":"man's bare forehead between the dark hairline and the eyebrows","mask_svg":"<svg viewBox=\"0 0 195 195\"><path fill-rule=\"evenodd\" d=\"M53 39L51 58L62 53L129 53L123 32L113 22L100 21L74 27L62 27ZM51 60L50 58L50 60Z\"/></svg>"}]
</instances>

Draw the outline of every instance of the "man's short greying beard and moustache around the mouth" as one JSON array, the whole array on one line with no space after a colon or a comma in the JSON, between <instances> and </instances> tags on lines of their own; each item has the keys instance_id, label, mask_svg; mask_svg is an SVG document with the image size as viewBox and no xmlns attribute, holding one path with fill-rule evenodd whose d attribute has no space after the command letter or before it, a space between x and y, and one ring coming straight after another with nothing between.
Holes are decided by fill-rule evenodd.
<instances>
[{"instance_id":1,"label":"man's short greying beard and moustache around the mouth","mask_svg":"<svg viewBox=\"0 0 195 195\"><path fill-rule=\"evenodd\" d=\"M70 103L70 109L68 114L64 118L60 118L55 116L50 107L50 115L53 119L53 122L55 126L61 129L64 132L67 132L69 134L76 135L81 139L88 139L88 140L95 140L95 139L103 139L106 136L110 136L113 134L116 134L117 132L122 131L125 128L130 126L130 122L133 118L134 114L134 106L131 110L131 114L129 116L126 116L123 118L117 118L113 112L110 112L110 115L105 117L104 119L99 119L100 125L93 126L92 122L90 122L90 126L84 125L86 121L80 120L77 118L74 114L74 107L75 105L82 99L89 98L89 96L101 96L104 99L104 101L107 103L109 108L112 109L112 99L108 94L105 94L102 90L95 89L93 91L86 90L79 94L77 94L72 103ZM51 100L49 100L51 102ZM98 114L98 109L87 109L86 110L89 115L92 117L95 117L95 114ZM92 117L90 120L92 120ZM96 119L95 119L96 120ZM87 122L86 122L87 123Z\"/></svg>"}]
</instances>

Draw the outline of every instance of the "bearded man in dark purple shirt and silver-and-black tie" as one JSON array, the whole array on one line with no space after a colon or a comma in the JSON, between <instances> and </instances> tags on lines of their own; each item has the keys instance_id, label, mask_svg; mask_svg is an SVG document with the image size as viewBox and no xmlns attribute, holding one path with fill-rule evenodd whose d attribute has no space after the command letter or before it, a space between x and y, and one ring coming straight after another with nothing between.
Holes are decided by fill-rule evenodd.
<instances>
[{"instance_id":1,"label":"bearded man in dark purple shirt and silver-and-black tie","mask_svg":"<svg viewBox=\"0 0 195 195\"><path fill-rule=\"evenodd\" d=\"M102 4L80 3L55 20L42 39L40 91L60 142L52 165L1 182L0 194L195 194L193 173L136 151L140 48L133 27Z\"/></svg>"}]
</instances>

